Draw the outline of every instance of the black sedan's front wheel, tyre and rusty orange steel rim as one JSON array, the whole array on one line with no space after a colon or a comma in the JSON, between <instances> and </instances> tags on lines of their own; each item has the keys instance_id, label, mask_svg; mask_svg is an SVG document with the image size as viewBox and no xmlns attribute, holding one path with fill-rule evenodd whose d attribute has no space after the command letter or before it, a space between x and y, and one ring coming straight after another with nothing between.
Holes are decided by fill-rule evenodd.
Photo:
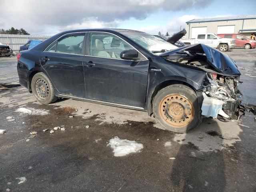
<instances>
[{"instance_id":1,"label":"black sedan's front wheel, tyre and rusty orange steel rim","mask_svg":"<svg viewBox=\"0 0 256 192\"><path fill-rule=\"evenodd\" d=\"M196 93L182 84L161 89L154 97L153 112L158 122L172 132L185 133L200 123Z\"/></svg>"}]
</instances>

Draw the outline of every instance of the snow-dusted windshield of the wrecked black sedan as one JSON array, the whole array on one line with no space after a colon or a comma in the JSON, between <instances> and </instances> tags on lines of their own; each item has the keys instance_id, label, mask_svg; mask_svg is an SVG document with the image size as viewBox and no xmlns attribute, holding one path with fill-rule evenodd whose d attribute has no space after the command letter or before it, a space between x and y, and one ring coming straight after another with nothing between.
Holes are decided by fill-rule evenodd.
<instances>
[{"instance_id":1,"label":"snow-dusted windshield of the wrecked black sedan","mask_svg":"<svg viewBox=\"0 0 256 192\"><path fill-rule=\"evenodd\" d=\"M153 54L160 54L162 52L166 52L169 50L176 49L173 44L163 40L162 38L156 37L154 35L150 35L144 32L120 32L126 37L138 43L140 46L149 50Z\"/></svg>"}]
</instances>

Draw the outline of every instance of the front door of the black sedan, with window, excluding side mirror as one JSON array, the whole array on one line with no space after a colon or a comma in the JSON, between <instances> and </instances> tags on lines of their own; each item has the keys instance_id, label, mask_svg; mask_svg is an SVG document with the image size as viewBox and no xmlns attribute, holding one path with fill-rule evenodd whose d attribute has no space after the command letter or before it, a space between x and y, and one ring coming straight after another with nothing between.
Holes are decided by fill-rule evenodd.
<instances>
[{"instance_id":1,"label":"front door of the black sedan, with window, excluding side mirror","mask_svg":"<svg viewBox=\"0 0 256 192\"><path fill-rule=\"evenodd\" d=\"M84 56L86 98L144 108L149 61L120 58L123 50L135 49L118 36L90 32Z\"/></svg>"}]
</instances>

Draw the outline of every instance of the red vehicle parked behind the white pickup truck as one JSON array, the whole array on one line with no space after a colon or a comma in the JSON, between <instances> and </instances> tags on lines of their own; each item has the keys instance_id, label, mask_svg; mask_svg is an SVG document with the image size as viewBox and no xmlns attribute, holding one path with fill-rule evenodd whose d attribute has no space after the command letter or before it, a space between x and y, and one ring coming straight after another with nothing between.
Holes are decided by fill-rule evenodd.
<instances>
[{"instance_id":1,"label":"red vehicle parked behind the white pickup truck","mask_svg":"<svg viewBox=\"0 0 256 192\"><path fill-rule=\"evenodd\" d=\"M221 38L232 38L236 40L235 47L244 47L246 49L255 48L256 41L252 39L248 39L246 36L242 34L218 34Z\"/></svg>"}]
</instances>

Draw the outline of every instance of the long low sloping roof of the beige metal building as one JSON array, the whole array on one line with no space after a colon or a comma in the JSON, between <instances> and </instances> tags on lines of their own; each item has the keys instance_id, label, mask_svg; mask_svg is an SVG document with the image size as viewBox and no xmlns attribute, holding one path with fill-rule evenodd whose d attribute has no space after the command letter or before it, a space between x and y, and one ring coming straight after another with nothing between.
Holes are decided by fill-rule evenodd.
<instances>
[{"instance_id":1,"label":"long low sloping roof of the beige metal building","mask_svg":"<svg viewBox=\"0 0 256 192\"><path fill-rule=\"evenodd\" d=\"M256 19L256 15L193 19L193 20L187 21L186 23L201 23L201 22L230 21L230 20L244 20L244 19Z\"/></svg>"}]
</instances>

